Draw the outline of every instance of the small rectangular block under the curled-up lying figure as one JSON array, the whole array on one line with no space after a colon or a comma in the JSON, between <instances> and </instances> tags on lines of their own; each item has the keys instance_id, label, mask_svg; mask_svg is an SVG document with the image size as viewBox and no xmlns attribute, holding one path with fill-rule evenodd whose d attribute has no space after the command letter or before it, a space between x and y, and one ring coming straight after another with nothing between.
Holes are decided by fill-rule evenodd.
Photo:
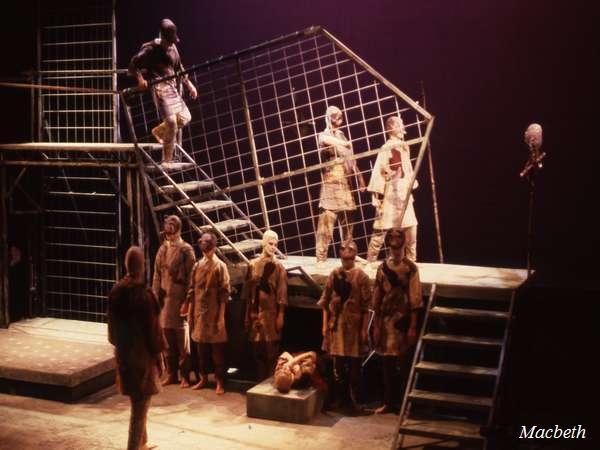
<instances>
[{"instance_id":1,"label":"small rectangular block under the curled-up lying figure","mask_svg":"<svg viewBox=\"0 0 600 450\"><path fill-rule=\"evenodd\" d=\"M323 407L323 393L313 387L282 394L267 378L246 392L246 414L258 419L291 423L310 422Z\"/></svg>"}]
</instances>

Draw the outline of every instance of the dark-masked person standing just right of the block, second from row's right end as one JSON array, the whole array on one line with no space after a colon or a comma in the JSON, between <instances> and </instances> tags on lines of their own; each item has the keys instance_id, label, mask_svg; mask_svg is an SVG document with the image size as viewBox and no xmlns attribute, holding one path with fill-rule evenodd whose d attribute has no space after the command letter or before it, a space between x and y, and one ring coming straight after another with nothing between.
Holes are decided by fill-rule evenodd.
<instances>
[{"instance_id":1,"label":"dark-masked person standing just right of the block, second from row's right end","mask_svg":"<svg viewBox=\"0 0 600 450\"><path fill-rule=\"evenodd\" d=\"M340 248L342 266L334 269L318 305L323 308L323 350L333 357L334 395L337 407L358 406L361 348L368 345L368 275L354 266L357 248L346 242Z\"/></svg>"}]
</instances>

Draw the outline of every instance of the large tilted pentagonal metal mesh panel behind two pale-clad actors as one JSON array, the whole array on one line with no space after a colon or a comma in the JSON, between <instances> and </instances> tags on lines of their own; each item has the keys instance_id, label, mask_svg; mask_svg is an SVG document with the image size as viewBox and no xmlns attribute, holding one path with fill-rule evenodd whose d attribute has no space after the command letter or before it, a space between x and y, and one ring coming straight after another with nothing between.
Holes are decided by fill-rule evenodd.
<instances>
[{"instance_id":1,"label":"large tilted pentagonal metal mesh panel behind two pale-clad actors","mask_svg":"<svg viewBox=\"0 0 600 450\"><path fill-rule=\"evenodd\" d=\"M431 116L325 30L255 46L192 67L188 75L199 99L187 100L192 121L183 148L254 224L279 234L287 254L315 254L325 163L318 136L328 106L343 111L342 130L367 183L386 141L387 117L402 117L413 161L424 153ZM152 140L160 118L151 96L129 105L138 139ZM356 180L351 185L354 239L364 255L375 209L370 194L359 192ZM330 256L340 240L336 232Z\"/></svg>"}]
</instances>

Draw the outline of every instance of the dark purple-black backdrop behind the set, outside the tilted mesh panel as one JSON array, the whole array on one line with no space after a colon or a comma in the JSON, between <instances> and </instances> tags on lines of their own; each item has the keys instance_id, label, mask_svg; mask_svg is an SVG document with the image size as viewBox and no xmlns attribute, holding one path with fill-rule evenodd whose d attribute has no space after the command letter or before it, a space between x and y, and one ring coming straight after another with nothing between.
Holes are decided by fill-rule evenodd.
<instances>
[{"instance_id":1,"label":"dark purple-black backdrop behind the set, outside the tilted mesh panel","mask_svg":"<svg viewBox=\"0 0 600 450\"><path fill-rule=\"evenodd\" d=\"M594 276L598 250L593 118L598 39L594 2L546 1L120 1L119 67L179 26L191 65L322 25L436 116L432 148L446 259L524 267L527 157L523 131L544 127L548 160L537 186L536 265ZM33 66L33 2L13 4L0 29L2 78ZM1 141L29 139L25 91L0 89ZM434 260L430 198L417 195L424 260Z\"/></svg>"}]
</instances>

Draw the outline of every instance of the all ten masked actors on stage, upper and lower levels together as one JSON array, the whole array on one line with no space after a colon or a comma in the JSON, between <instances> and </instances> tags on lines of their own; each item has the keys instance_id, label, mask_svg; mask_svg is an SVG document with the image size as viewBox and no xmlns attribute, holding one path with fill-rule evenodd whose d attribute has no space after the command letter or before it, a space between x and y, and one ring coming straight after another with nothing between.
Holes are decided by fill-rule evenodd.
<instances>
[{"instance_id":1,"label":"all ten masked actors on stage, upper and lower levels together","mask_svg":"<svg viewBox=\"0 0 600 450\"><path fill-rule=\"evenodd\" d=\"M176 133L191 118L176 85L175 75L183 70L175 45L178 41L175 24L164 19L159 38L144 44L130 64L140 88L148 87L142 70L150 74L154 100L163 119L153 130L163 144L163 163L172 161ZM165 76L173 78L152 83L152 79ZM182 79L195 98L193 83L187 76ZM417 220L409 192L414 177L404 141L406 130L400 117L386 120L388 140L377 155L367 186L352 145L341 129L342 111L328 107L325 120L319 146L323 159L332 163L322 174L317 263L327 259L336 222L342 242L341 266L330 273L318 302L323 310L322 349L333 363L333 383L326 389L335 399L334 406L350 412L362 410L360 369L370 342L383 359L384 401L375 412L385 413L395 408L394 392L399 388L394 385L395 371L399 359L416 342L417 312L422 307L419 271L414 262ZM360 191L371 192L377 211L368 261L377 261L384 243L389 249L389 257L377 268L374 286L356 264L352 179L357 180ZM231 286L227 266L216 255L217 238L212 233L200 237L202 258L196 261L192 246L181 237L179 217L165 219L163 234L152 287L145 285L142 250L131 247L125 256L127 273L109 295L109 340L115 345L117 384L131 399L130 449L147 448L146 416L150 398L159 392L160 385L179 383L184 388L201 389L208 383L212 363L215 391L225 392L225 310ZM275 387L287 392L307 379L318 378L318 370L315 352L280 354L287 273L276 257L277 242L274 231L263 234L262 253L249 262L241 299L245 301L245 327L258 381L273 376Z\"/></svg>"}]
</instances>

